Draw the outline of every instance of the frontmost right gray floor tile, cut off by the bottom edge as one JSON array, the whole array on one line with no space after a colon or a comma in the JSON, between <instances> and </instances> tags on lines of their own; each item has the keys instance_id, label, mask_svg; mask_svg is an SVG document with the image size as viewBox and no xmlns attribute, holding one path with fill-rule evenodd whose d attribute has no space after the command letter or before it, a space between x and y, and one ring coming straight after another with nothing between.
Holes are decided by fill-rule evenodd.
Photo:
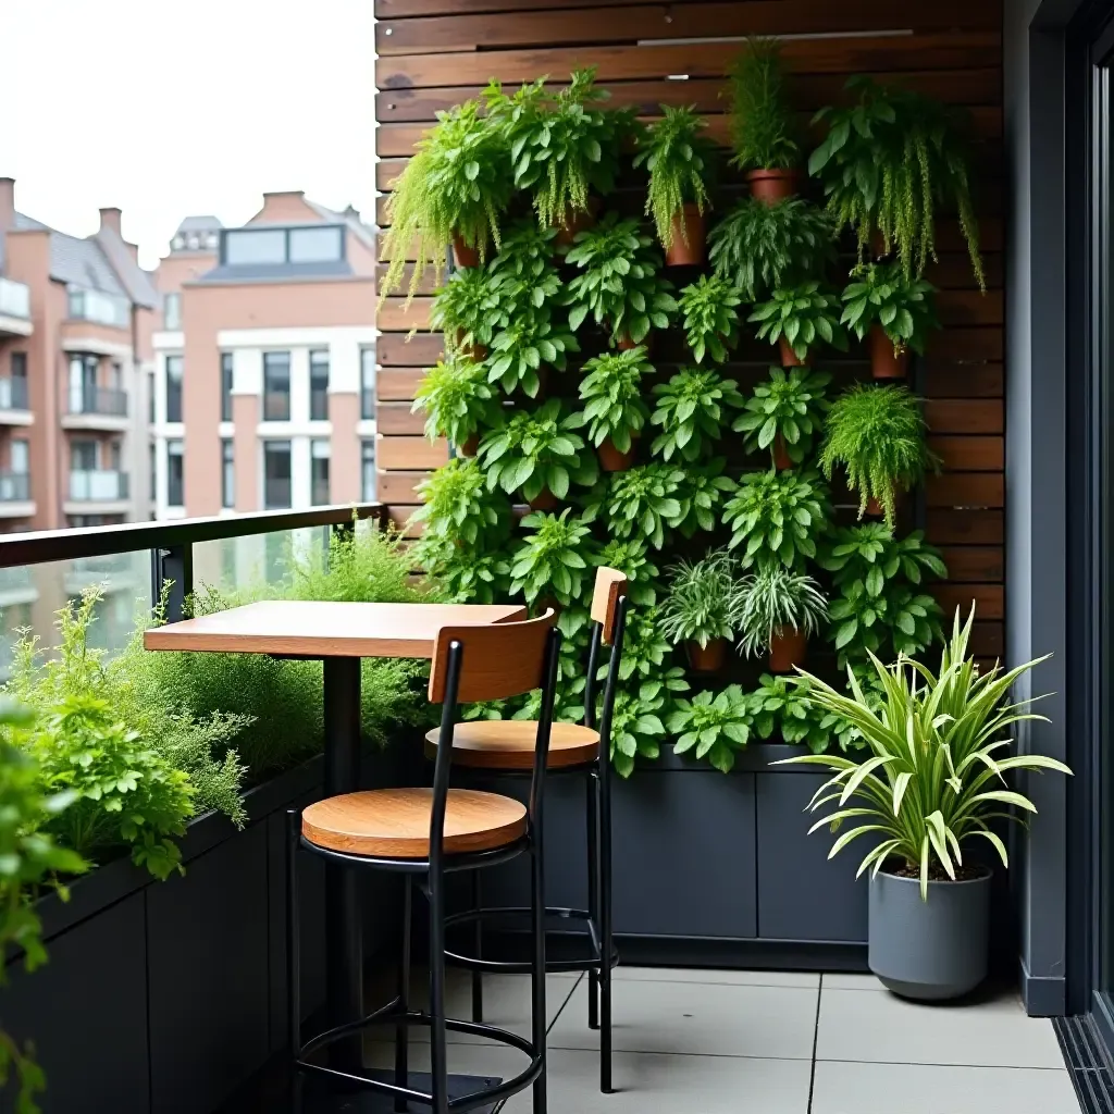
<instances>
[{"instance_id":1,"label":"frontmost right gray floor tile, cut off by the bottom edge","mask_svg":"<svg viewBox=\"0 0 1114 1114\"><path fill-rule=\"evenodd\" d=\"M811 1114L1079 1114L1066 1071L818 1063Z\"/></svg>"}]
</instances>

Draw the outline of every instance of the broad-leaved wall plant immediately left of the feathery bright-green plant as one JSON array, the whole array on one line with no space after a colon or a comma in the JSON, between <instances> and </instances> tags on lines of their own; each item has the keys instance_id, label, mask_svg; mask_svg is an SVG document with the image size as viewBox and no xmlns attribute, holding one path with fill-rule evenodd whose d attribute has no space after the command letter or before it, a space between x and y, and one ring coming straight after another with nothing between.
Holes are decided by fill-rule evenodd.
<instances>
[{"instance_id":1,"label":"broad-leaved wall plant immediately left of the feathery bright-green plant","mask_svg":"<svg viewBox=\"0 0 1114 1114\"><path fill-rule=\"evenodd\" d=\"M823 429L831 375L809 368L771 368L770 378L754 388L746 410L732 429L746 434L747 452L774 451L778 438L794 465L803 463L813 438Z\"/></svg>"}]
</instances>

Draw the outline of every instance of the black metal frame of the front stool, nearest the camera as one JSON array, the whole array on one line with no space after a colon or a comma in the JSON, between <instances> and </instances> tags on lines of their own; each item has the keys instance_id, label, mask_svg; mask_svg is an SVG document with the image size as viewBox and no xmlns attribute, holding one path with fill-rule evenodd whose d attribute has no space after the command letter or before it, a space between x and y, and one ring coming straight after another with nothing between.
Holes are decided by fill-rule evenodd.
<instances>
[{"instance_id":1,"label":"black metal frame of the front stool, nearest the camera","mask_svg":"<svg viewBox=\"0 0 1114 1114\"><path fill-rule=\"evenodd\" d=\"M535 1114L546 1112L546 947L545 947L545 886L543 817L545 801L546 760L549 753L549 735L553 725L554 700L557 686L557 661L560 652L560 632L556 626L549 632L546 643L544 683L541 687L541 712L538 719L538 741L535 751L534 771L527 807L527 832L506 847L491 851L468 853L444 852L444 814L449 798L450 769L452 765L452 733L456 724L457 693L465 646L453 641L449 646L444 702L441 712L441 737L449 741L443 752L438 753L433 771L433 803L430 818L430 853L428 859L375 858L349 854L319 847L302 834L301 812L290 810L287 815L287 983L290 1010L287 1016L289 1042L292 1051L295 1079L301 1072L334 1078L350 1085L365 1087L380 1094L394 1096L394 1108L404 1112L408 1103L421 1103L432 1114L465 1114L480 1106L500 1103L505 1098L534 1088ZM363 867L387 870L405 876L403 898L402 949L399 967L399 985L395 997L362 1018L326 1029L315 1037L302 1042L301 1018L301 956L299 924L297 851L311 851L328 861L350 869ZM487 867L509 862L520 854L530 857L531 876L531 1010L530 1038L518 1036L494 1025L463 1022L446 1017L444 1006L444 930L446 922L446 876L460 870L479 871ZM423 892L429 903L429 964L430 964L430 1009L429 1013L410 1008L410 946L413 917L413 885L424 878ZM314 1064L309 1057L314 1053L344 1038L351 1038L375 1024L394 1023L394 1083L371 1079L363 1075L342 1071L324 1064ZM412 1025L428 1026L430 1029L430 1057L432 1094L414 1091L409 1082L409 1028ZM517 1048L529 1057L524 1072L495 1086L483 1087L459 1098L448 1094L448 1047L447 1033L469 1033L486 1037L511 1048ZM295 1083L296 1085L296 1083Z\"/></svg>"}]
</instances>

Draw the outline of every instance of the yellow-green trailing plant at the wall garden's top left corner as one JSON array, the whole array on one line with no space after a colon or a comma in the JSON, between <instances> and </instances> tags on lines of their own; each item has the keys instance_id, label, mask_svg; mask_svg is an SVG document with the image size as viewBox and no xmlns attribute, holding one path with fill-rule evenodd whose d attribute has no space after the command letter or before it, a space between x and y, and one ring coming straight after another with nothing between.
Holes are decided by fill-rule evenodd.
<instances>
[{"instance_id":1,"label":"yellow-green trailing plant at the wall garden's top left corner","mask_svg":"<svg viewBox=\"0 0 1114 1114\"><path fill-rule=\"evenodd\" d=\"M392 183L387 203L390 229L383 242L390 260L380 301L398 290L408 252L416 263L410 297L432 263L440 284L446 246L459 237L483 257L489 242L499 245L499 221L511 189L510 148L499 128L480 115L480 101L469 100L438 113L414 156ZM416 245L416 246L414 246Z\"/></svg>"}]
</instances>

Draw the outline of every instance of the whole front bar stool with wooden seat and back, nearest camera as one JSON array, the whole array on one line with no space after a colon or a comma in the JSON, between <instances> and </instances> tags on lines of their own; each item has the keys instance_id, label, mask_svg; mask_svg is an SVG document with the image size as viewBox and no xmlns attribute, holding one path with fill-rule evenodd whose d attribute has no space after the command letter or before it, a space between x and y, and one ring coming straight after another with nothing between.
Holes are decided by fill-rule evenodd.
<instances>
[{"instance_id":1,"label":"whole front bar stool with wooden seat and back, nearest camera","mask_svg":"<svg viewBox=\"0 0 1114 1114\"><path fill-rule=\"evenodd\" d=\"M534 1110L546 1110L546 983L545 916L543 887L543 802L546 758L549 752L554 693L560 632L554 612L522 623L491 626L443 627L437 637L429 681L431 703L441 703L441 736L451 742L457 729L457 705L461 702L500 700L541 690L541 715L534 740L532 780L529 804L475 790L451 789L451 746L440 755L432 789L383 789L345 793L292 810L289 819L287 934L290 942L290 1046L295 1078L315 1073L345 1085L362 1086L393 1095L395 1110L408 1102L421 1103L432 1114L448 1114L447 1030L509 1045L529 1057L519 1075L452 1100L451 1110L466 1112L499 1103L532 1086ZM297 850L302 848L342 863L350 869L369 868L401 872L405 878L402 956L397 996L365 1017L320 1033L305 1044L301 1040L300 938L297 924ZM531 994L530 1038L477 1022L446 1016L444 930L446 876L479 871L528 854L531 876ZM410 1008L410 937L412 890L418 881L429 902L429 991L430 1009ZM310 1061L315 1053L373 1024L394 1024L394 1078L369 1078L339 1066ZM409 1085L408 1036L410 1026L430 1029L432 1064L431 1092Z\"/></svg>"}]
</instances>

